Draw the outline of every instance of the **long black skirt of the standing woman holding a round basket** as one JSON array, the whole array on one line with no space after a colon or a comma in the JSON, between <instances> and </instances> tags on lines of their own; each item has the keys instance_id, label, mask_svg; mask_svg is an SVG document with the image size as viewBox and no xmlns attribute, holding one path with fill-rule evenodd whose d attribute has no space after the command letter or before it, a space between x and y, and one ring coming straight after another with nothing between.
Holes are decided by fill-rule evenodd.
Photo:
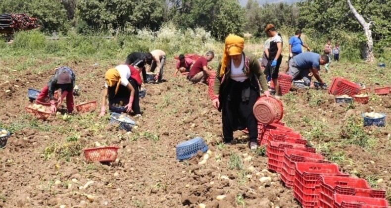
<instances>
[{"instance_id":1,"label":"long black skirt of the standing woman holding a round basket","mask_svg":"<svg viewBox=\"0 0 391 208\"><path fill-rule=\"evenodd\" d=\"M252 112L258 92L250 87L249 81L237 82L230 80L227 86L228 98L222 108L224 142L234 139L234 131L248 129L250 142L256 142L258 137L258 122ZM243 102L242 92L250 88L249 100Z\"/></svg>"}]
</instances>

